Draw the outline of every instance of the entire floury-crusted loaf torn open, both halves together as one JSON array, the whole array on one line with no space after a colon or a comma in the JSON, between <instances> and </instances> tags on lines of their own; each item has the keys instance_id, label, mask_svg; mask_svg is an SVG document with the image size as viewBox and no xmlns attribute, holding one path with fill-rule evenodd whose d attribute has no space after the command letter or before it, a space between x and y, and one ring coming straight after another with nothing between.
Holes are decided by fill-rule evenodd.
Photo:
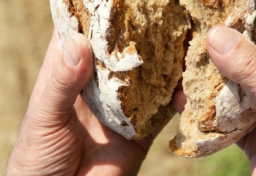
<instances>
[{"instance_id":1,"label":"entire floury-crusted loaf torn open, both halves together","mask_svg":"<svg viewBox=\"0 0 256 176\"><path fill-rule=\"evenodd\" d=\"M50 3L61 51L76 32L89 38L95 71L81 96L117 133L141 139L175 113L171 97L182 73L188 12L194 25L183 73L187 103L170 149L188 158L207 156L255 128L255 97L224 77L206 48L207 32L217 24L256 42L255 0Z\"/></svg>"}]
</instances>

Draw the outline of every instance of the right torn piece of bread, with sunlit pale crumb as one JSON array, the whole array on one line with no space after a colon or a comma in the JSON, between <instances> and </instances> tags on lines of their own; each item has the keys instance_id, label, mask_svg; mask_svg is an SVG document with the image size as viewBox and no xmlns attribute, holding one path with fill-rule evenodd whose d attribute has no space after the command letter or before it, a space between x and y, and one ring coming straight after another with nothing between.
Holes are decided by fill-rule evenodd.
<instances>
[{"instance_id":1,"label":"right torn piece of bread, with sunlit pale crumb","mask_svg":"<svg viewBox=\"0 0 256 176\"><path fill-rule=\"evenodd\" d=\"M187 103L181 115L172 151L194 158L213 154L233 144L256 126L256 99L224 77L206 48L212 26L235 28L256 42L255 0L180 0L197 31L190 42L183 73Z\"/></svg>"}]
</instances>

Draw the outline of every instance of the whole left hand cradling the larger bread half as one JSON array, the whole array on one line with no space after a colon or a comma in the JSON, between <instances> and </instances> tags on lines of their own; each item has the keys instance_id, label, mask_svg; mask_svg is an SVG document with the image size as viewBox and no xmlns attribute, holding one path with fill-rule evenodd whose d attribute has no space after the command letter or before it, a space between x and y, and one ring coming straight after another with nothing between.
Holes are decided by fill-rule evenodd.
<instances>
[{"instance_id":1,"label":"whole left hand cradling the larger bread half","mask_svg":"<svg viewBox=\"0 0 256 176\"><path fill-rule=\"evenodd\" d=\"M6 175L136 175L161 128L127 140L102 125L79 96L93 72L82 34L60 53L49 44Z\"/></svg>"}]
</instances>

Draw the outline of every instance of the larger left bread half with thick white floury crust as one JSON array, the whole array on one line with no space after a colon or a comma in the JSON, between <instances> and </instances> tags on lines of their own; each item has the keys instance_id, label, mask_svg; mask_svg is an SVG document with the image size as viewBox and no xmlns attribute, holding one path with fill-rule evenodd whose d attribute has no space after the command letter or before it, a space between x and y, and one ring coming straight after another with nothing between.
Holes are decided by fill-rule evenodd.
<instances>
[{"instance_id":1,"label":"larger left bread half with thick white floury crust","mask_svg":"<svg viewBox=\"0 0 256 176\"><path fill-rule=\"evenodd\" d=\"M93 114L127 139L141 139L173 116L188 12L177 0L50 0L61 51L86 35L94 73L81 92Z\"/></svg>"}]
</instances>

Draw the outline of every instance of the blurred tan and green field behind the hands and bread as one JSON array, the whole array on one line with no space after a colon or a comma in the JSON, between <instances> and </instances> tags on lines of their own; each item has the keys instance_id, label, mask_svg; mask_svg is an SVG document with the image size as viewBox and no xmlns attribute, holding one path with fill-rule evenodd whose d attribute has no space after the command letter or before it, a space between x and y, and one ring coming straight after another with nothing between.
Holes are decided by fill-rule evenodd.
<instances>
[{"instance_id":1,"label":"blurred tan and green field behind the hands and bread","mask_svg":"<svg viewBox=\"0 0 256 176\"><path fill-rule=\"evenodd\" d=\"M17 139L38 71L52 35L48 0L0 0L0 175ZM249 176L244 153L232 145L212 156L184 159L168 148L179 115L164 128L139 176Z\"/></svg>"}]
</instances>

